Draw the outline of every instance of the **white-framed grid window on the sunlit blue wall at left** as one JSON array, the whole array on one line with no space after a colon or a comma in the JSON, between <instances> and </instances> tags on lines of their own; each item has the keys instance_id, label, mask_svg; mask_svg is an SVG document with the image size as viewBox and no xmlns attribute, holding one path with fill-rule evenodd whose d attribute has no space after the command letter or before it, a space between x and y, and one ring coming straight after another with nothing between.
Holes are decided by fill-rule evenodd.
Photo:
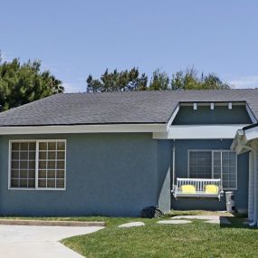
<instances>
[{"instance_id":1,"label":"white-framed grid window on the sunlit blue wall at left","mask_svg":"<svg viewBox=\"0 0 258 258\"><path fill-rule=\"evenodd\" d=\"M9 141L9 189L63 190L66 140Z\"/></svg>"}]
</instances>

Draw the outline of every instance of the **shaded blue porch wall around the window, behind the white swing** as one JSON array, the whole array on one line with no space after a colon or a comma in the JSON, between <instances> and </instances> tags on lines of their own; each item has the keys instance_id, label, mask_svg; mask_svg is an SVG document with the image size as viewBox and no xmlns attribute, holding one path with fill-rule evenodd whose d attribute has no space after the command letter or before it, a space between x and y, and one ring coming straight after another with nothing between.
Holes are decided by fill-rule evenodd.
<instances>
[{"instance_id":1,"label":"shaded blue porch wall around the window, behind the white swing","mask_svg":"<svg viewBox=\"0 0 258 258\"><path fill-rule=\"evenodd\" d=\"M181 139L176 140L176 175L187 177L188 149L229 149L232 139ZM238 189L234 191L237 209L247 209L248 198L248 154L237 158ZM176 210L225 210L225 197L218 200L206 199L178 199L172 197L171 207Z\"/></svg>"}]
</instances>

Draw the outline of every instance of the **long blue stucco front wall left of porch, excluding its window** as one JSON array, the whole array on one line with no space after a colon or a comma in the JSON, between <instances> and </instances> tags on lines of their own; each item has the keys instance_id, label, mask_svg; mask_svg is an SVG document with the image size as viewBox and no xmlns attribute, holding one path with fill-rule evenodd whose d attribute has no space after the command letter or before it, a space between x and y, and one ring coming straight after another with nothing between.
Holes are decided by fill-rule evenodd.
<instances>
[{"instance_id":1,"label":"long blue stucco front wall left of porch, excluding its window","mask_svg":"<svg viewBox=\"0 0 258 258\"><path fill-rule=\"evenodd\" d=\"M67 139L66 190L8 190L9 139ZM135 216L158 203L167 210L168 148L145 133L1 137L0 213Z\"/></svg>"}]
</instances>

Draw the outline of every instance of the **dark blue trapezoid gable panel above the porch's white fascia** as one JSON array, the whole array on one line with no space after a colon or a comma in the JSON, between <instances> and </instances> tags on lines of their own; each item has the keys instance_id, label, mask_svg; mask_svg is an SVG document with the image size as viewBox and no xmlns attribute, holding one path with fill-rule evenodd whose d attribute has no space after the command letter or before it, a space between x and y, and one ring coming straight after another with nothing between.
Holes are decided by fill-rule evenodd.
<instances>
[{"instance_id":1,"label":"dark blue trapezoid gable panel above the porch's white fascia","mask_svg":"<svg viewBox=\"0 0 258 258\"><path fill-rule=\"evenodd\" d=\"M229 110L224 106L200 106L197 110L191 107L180 107L173 125L198 125L198 124L251 124L252 121L244 106L233 106Z\"/></svg>"}]
</instances>

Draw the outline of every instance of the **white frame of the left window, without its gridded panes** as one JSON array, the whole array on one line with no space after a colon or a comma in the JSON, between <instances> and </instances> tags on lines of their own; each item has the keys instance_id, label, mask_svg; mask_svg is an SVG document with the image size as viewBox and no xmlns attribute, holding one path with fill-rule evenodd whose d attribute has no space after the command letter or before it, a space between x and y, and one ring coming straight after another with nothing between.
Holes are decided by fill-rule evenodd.
<instances>
[{"instance_id":1,"label":"white frame of the left window, without its gridded panes","mask_svg":"<svg viewBox=\"0 0 258 258\"><path fill-rule=\"evenodd\" d=\"M38 155L39 155L39 143L40 142L64 142L64 187L63 188L52 188L52 187L39 187L38 186ZM26 188L26 187L11 187L11 156L12 156L12 143L13 142L35 142L36 150L35 150L35 187ZM10 139L9 140L9 154L8 154L8 190L20 191L20 190L29 190L29 191L65 191L66 190L66 139Z\"/></svg>"}]
</instances>

